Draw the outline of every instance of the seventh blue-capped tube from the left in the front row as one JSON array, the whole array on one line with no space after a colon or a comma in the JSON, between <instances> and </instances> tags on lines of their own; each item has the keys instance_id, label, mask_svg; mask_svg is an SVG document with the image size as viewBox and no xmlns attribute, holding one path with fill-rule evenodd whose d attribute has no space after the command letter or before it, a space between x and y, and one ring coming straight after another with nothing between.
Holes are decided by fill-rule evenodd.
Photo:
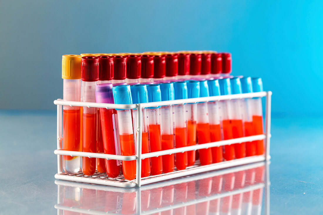
<instances>
[{"instance_id":1,"label":"seventh blue-capped tube from the left in the front row","mask_svg":"<svg viewBox=\"0 0 323 215\"><path fill-rule=\"evenodd\" d=\"M200 97L208 97L209 89L207 81L200 81ZM197 104L197 139L198 144L211 142L211 133L209 125L209 116L207 102L199 102ZM202 165L212 164L212 151L211 148L199 149L200 162Z\"/></svg>"}]
</instances>

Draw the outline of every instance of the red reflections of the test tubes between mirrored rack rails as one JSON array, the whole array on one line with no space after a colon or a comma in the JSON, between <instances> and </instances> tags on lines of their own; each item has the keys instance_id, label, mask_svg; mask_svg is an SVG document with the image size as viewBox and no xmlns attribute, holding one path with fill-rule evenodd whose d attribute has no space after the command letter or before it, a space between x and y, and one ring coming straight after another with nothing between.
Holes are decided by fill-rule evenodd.
<instances>
[{"instance_id":1,"label":"red reflections of the test tubes between mirrored rack rails","mask_svg":"<svg viewBox=\"0 0 323 215\"><path fill-rule=\"evenodd\" d=\"M59 185L59 206L81 208L92 213L96 211L118 214L139 214L137 201L141 211L163 209L172 205L180 205L193 200L202 200L230 191L248 188L265 182L265 166L235 171L188 182L178 182L158 188L143 189L138 192L118 189L114 191L90 189L78 186ZM267 181L266 181L267 182ZM64 184L64 182L62 182ZM268 186L268 185L267 185ZM192 203L188 206L165 210L155 214L252 214L262 211L263 189L255 188L238 192L214 200ZM69 211L64 211L69 212Z\"/></svg>"}]
</instances>

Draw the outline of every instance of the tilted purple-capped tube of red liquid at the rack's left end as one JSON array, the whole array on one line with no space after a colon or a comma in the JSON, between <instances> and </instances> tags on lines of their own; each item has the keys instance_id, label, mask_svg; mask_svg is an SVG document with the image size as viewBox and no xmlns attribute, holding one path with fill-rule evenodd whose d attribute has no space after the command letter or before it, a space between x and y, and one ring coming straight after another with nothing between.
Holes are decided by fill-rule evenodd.
<instances>
[{"instance_id":1,"label":"tilted purple-capped tube of red liquid at the rack's left end","mask_svg":"<svg viewBox=\"0 0 323 215\"><path fill-rule=\"evenodd\" d=\"M103 83L95 86L95 97L98 103L114 104L112 84ZM117 114L115 109L99 108L100 123L102 125L102 137L104 153L110 155L116 155L116 130L115 116ZM105 160L105 168L107 175L110 178L116 178L120 174L120 165L117 160L103 159Z\"/></svg>"}]
</instances>

